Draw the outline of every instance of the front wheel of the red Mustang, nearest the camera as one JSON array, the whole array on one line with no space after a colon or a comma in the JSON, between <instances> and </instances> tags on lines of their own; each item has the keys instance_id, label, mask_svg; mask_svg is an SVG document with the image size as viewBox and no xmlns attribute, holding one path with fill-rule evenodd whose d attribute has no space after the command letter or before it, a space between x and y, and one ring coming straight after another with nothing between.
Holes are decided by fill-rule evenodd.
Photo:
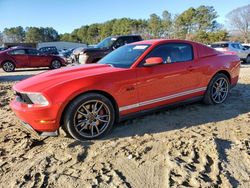
<instances>
[{"instance_id":1,"label":"front wheel of the red Mustang, nearest the camera","mask_svg":"<svg viewBox=\"0 0 250 188\"><path fill-rule=\"evenodd\" d=\"M76 98L66 109L64 129L75 139L96 139L108 133L114 124L115 111L105 96L88 93Z\"/></svg>"}]
</instances>

